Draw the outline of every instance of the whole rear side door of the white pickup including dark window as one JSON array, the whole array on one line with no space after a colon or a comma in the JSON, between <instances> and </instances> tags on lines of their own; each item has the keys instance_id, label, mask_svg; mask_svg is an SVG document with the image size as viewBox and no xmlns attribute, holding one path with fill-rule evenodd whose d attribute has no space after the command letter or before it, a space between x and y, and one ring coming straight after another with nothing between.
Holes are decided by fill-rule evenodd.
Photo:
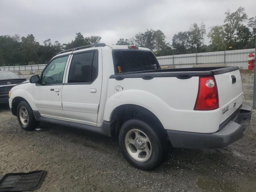
<instances>
[{"instance_id":1,"label":"whole rear side door of the white pickup including dark window","mask_svg":"<svg viewBox=\"0 0 256 192\"><path fill-rule=\"evenodd\" d=\"M73 52L62 90L66 120L97 125L102 86L101 49Z\"/></svg>"}]
</instances>

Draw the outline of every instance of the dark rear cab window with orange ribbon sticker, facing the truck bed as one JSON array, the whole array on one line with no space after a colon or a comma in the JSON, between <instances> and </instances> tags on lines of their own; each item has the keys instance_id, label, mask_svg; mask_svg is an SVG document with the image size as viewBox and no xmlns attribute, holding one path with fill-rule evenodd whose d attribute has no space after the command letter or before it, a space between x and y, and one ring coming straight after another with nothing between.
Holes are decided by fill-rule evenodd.
<instances>
[{"instance_id":1,"label":"dark rear cab window with orange ribbon sticker, facing the truck bed","mask_svg":"<svg viewBox=\"0 0 256 192\"><path fill-rule=\"evenodd\" d=\"M158 61L150 51L115 50L113 59L116 73L160 69Z\"/></svg>"}]
</instances>

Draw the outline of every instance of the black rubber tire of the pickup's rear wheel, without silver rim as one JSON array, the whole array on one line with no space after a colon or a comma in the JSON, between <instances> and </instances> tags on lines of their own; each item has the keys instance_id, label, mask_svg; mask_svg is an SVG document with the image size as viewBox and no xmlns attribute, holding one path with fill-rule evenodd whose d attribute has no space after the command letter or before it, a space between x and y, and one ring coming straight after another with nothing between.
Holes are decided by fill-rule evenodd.
<instances>
[{"instance_id":1,"label":"black rubber tire of the pickup's rear wheel, without silver rim","mask_svg":"<svg viewBox=\"0 0 256 192\"><path fill-rule=\"evenodd\" d=\"M137 130L142 131L146 134L148 139L151 143L151 155L150 158L144 162L140 162L136 159L134 159L128 152L126 148L126 134L129 134L132 130L136 128ZM165 146L163 144L162 134L158 130L154 130L150 124L138 120L138 119L132 119L126 121L120 128L119 132L119 146L122 151L122 154L126 158L126 160L134 167L141 169L141 170L152 170L160 165L164 158L164 152L165 152ZM135 146L135 145L134 145ZM138 148L135 148L136 150Z\"/></svg>"}]
</instances>

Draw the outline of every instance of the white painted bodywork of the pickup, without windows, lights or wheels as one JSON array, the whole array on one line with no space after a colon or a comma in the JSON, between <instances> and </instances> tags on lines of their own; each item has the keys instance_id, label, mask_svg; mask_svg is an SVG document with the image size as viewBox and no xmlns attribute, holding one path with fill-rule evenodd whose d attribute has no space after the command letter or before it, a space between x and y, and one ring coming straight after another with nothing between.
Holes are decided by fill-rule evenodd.
<instances>
[{"instance_id":1,"label":"white painted bodywork of the pickup, without windows, lights or wheels","mask_svg":"<svg viewBox=\"0 0 256 192\"><path fill-rule=\"evenodd\" d=\"M128 47L104 46L86 49L98 50L98 77L92 84L67 85L70 62L74 54L70 52L64 72L64 85L36 86L27 83L16 86L12 88L10 108L12 100L19 96L42 116L100 127L104 120L111 121L112 113L118 106L134 104L152 112L166 130L213 133L218 131L220 124L242 104L242 80L239 70L214 76L220 107L204 111L194 110L198 95L198 76L188 79L155 77L151 80L110 78L114 74L112 50L119 49ZM138 50L150 51L147 48ZM234 85L230 79L231 75L236 76ZM116 93L117 86L123 88L121 92ZM49 88L59 89L59 92L50 92ZM229 110L222 114L227 105L230 106Z\"/></svg>"}]
</instances>

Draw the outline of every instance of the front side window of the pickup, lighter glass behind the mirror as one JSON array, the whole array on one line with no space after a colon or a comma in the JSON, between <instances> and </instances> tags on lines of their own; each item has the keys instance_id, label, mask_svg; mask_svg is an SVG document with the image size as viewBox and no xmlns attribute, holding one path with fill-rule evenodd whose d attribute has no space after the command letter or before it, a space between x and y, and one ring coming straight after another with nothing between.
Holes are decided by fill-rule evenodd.
<instances>
[{"instance_id":1,"label":"front side window of the pickup, lighter glass behind the mirror","mask_svg":"<svg viewBox=\"0 0 256 192\"><path fill-rule=\"evenodd\" d=\"M59 57L52 60L42 74L42 84L62 83L67 60L68 56Z\"/></svg>"}]
</instances>

